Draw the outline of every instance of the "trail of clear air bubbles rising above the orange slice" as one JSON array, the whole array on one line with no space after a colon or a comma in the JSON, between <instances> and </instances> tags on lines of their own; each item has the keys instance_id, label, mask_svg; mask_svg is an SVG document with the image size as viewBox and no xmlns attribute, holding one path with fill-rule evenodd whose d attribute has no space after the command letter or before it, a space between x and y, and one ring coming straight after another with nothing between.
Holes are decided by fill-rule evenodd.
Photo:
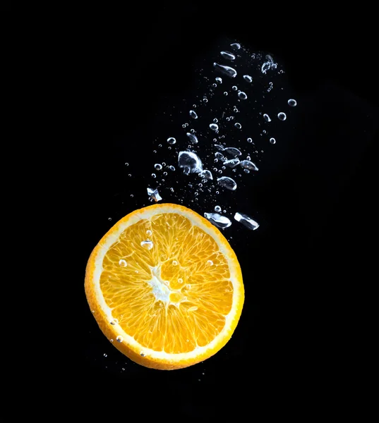
<instances>
[{"instance_id":1,"label":"trail of clear air bubbles rising above the orange slice","mask_svg":"<svg viewBox=\"0 0 379 423\"><path fill-rule=\"evenodd\" d=\"M246 72L246 63L251 65L250 72ZM240 74L239 67L243 67L243 64L245 72ZM169 154L165 156L165 159L171 163L162 162L162 164L154 165L154 173L152 173L154 181L147 188L150 202L159 202L162 200L161 195L164 195L162 192L169 190L169 194L175 192L178 202L185 200L193 203L198 202L199 198L204 198L208 208L210 207L210 198L217 201L217 197L213 197L213 195L224 194L224 197L222 195L220 197L226 198L229 204L225 208L231 209L231 199L227 197L227 192L234 192L238 189L238 178L242 178L248 173L253 175L259 170L257 161L260 161L260 153L253 137L246 136L246 141L241 140L245 130L247 132L251 128L249 125L244 128L243 122L241 123L243 119L239 121L237 116L251 114L251 103L254 99L256 103L256 98L260 94L257 92L258 82L262 84L268 79L265 82L268 83L265 92L275 90L277 88L274 89L270 79L284 71L269 54L251 54L248 49L244 49L237 42L220 49L219 59L213 63L207 63L207 66L208 73L203 77L207 80L204 94L198 96L198 100L188 107L187 111L184 111L184 116L188 116L188 121L181 123L185 133L182 134L181 130L173 128L173 133L167 134L166 140L162 140L162 144L159 145L159 147L167 145ZM278 85L275 83L275 87ZM207 116L212 115L212 111L217 108L217 105L214 109L212 108L214 103L212 100L220 102L219 96L222 94L228 96L224 100L224 109L217 111L216 116L212 116L208 121L209 117ZM282 104L283 109L279 113L272 114L269 110L263 110L257 114L262 119L262 125L267 128L260 133L260 136L267 139L267 145L275 145L277 142L275 137L267 134L267 131L270 130L270 123L275 119L279 122L286 121L289 109L284 110L284 108L292 108L296 105L295 99L288 99L287 104ZM229 138L233 138L230 136L231 133L234 132L235 135L236 130L240 134L237 135L239 140L228 142ZM255 148L253 153L246 152L251 148ZM255 159L251 158L252 155ZM176 171L176 168L188 178L185 183L179 182L177 176L170 174L170 171ZM196 180L196 177L199 180ZM169 183L169 180L173 180L173 182ZM170 186L174 183L181 184L181 186L175 190ZM219 206L216 207L214 212L209 209L204 210L205 218L218 228L224 229L231 226L231 219L224 215L227 211L222 210ZM251 230L255 230L259 226L251 216L239 211L234 212L234 220Z\"/></svg>"}]
</instances>

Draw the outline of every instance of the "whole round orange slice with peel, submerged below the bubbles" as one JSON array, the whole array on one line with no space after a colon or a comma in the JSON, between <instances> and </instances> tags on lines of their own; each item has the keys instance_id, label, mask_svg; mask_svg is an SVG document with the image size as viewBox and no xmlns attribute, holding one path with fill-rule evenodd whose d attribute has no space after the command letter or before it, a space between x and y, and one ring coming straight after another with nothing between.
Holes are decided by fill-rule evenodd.
<instances>
[{"instance_id":1,"label":"whole round orange slice with peel, submerged below the bubbles","mask_svg":"<svg viewBox=\"0 0 379 423\"><path fill-rule=\"evenodd\" d=\"M241 316L239 262L224 235L191 209L155 204L97 244L85 295L100 329L134 362L179 369L229 341Z\"/></svg>"}]
</instances>

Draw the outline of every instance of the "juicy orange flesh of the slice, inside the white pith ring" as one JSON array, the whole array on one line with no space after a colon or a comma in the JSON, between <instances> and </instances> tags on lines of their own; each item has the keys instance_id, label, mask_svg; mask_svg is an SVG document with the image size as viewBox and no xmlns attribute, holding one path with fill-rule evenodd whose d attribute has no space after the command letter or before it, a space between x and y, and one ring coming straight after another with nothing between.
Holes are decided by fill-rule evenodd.
<instances>
[{"instance_id":1,"label":"juicy orange flesh of the slice, inside the white pith ring","mask_svg":"<svg viewBox=\"0 0 379 423\"><path fill-rule=\"evenodd\" d=\"M186 217L157 214L129 226L102 265L104 300L143 347L187 353L224 327L233 296L227 259Z\"/></svg>"}]
</instances>

